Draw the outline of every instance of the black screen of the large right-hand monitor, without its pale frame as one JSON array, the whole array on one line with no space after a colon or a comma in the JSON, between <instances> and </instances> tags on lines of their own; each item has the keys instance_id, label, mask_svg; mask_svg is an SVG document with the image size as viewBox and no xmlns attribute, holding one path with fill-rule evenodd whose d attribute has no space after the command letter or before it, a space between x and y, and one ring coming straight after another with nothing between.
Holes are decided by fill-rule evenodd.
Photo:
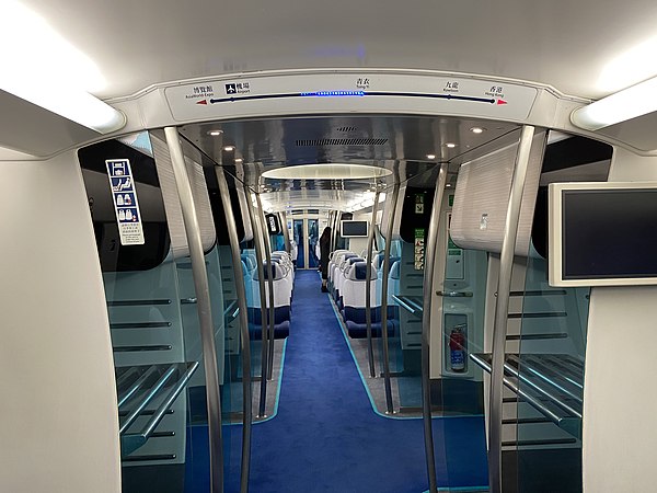
<instances>
[{"instance_id":1,"label":"black screen of the large right-hand monitor, without its pale frame","mask_svg":"<svg viewBox=\"0 0 657 493\"><path fill-rule=\"evenodd\" d=\"M657 188L563 190L563 279L657 278Z\"/></svg>"}]
</instances>

